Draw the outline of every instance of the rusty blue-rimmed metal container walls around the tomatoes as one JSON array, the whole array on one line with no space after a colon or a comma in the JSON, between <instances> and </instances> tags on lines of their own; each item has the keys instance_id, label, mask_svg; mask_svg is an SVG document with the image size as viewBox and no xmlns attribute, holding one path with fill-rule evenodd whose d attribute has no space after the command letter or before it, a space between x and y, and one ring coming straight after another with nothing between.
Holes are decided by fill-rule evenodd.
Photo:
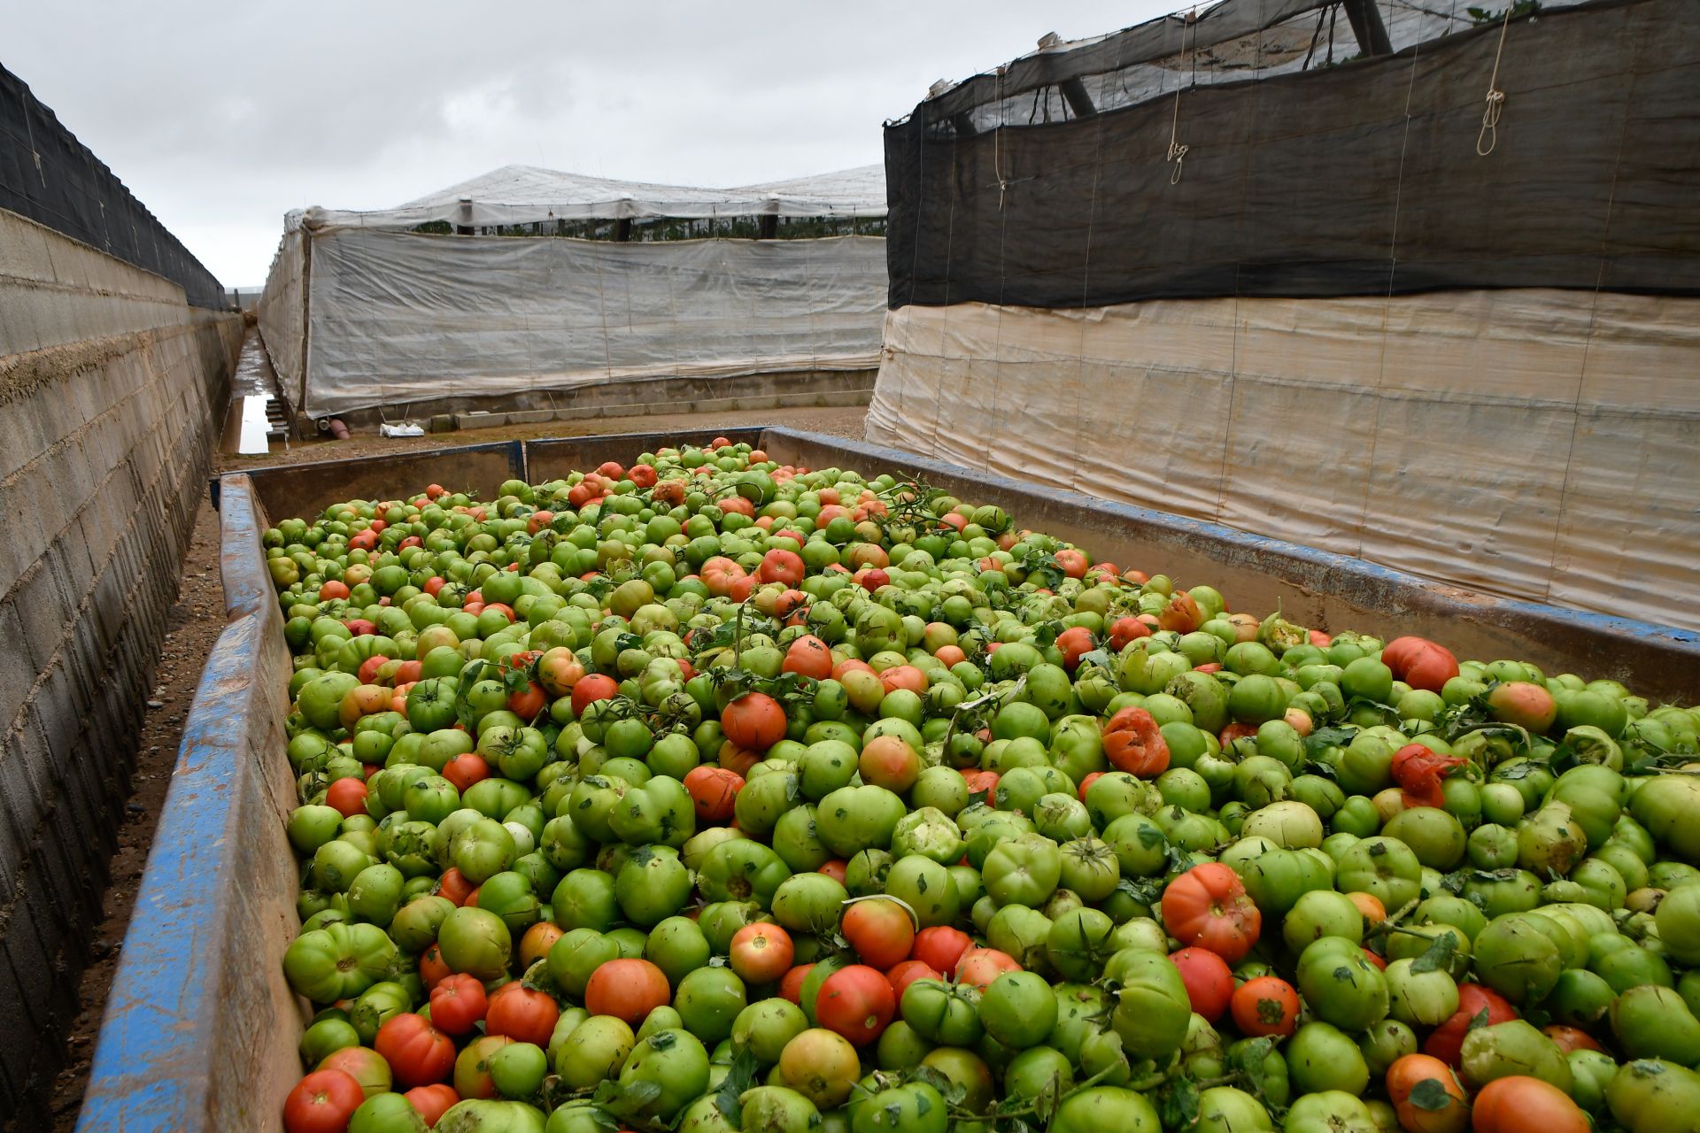
<instances>
[{"instance_id":1,"label":"rusty blue-rimmed metal container walls around the tomatoes","mask_svg":"<svg viewBox=\"0 0 1700 1133\"><path fill-rule=\"evenodd\" d=\"M284 756L291 664L260 549L267 516L311 515L350 494L405 494L432 479L488 493L508 476L544 481L712 435L513 442L219 481L231 623L184 729L80 1131L279 1130L282 1099L301 1072L303 1004L282 978L298 929L298 878L284 836L294 807ZM1345 555L836 437L780 428L721 435L760 443L790 464L918 474L1120 566L1217 584L1246 610L1282 605L1295 620L1328 629L1430 634L1462 656L1528 657L1552 673L1617 676L1652 696L1700 700L1700 634L1470 595Z\"/></svg>"}]
</instances>

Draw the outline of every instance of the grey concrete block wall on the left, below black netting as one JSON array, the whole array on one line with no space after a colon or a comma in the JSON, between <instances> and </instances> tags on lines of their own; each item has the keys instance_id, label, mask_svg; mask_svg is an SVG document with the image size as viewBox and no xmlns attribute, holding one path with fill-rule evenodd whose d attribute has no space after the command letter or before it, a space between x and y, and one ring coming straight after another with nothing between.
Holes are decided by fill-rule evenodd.
<instances>
[{"instance_id":1,"label":"grey concrete block wall on the left, below black netting","mask_svg":"<svg viewBox=\"0 0 1700 1133\"><path fill-rule=\"evenodd\" d=\"M0 211L0 1118L44 1128L241 319Z\"/></svg>"}]
</instances>

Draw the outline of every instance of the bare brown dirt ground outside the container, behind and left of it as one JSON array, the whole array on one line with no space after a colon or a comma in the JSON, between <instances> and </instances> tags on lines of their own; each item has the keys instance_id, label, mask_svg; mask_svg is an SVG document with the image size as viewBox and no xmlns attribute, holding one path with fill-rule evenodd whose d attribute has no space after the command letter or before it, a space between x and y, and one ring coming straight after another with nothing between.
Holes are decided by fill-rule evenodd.
<instances>
[{"instance_id":1,"label":"bare brown dirt ground outside the container, behind and left of it","mask_svg":"<svg viewBox=\"0 0 1700 1133\"><path fill-rule=\"evenodd\" d=\"M236 457L216 454L218 472L241 471L262 464L299 464L306 460L333 460L343 457L382 455L418 448L447 448L476 445L493 440L532 440L537 437L593 437L605 433L641 433L680 428L722 428L750 425L784 425L787 428L830 433L833 437L862 437L865 409L768 409L760 413L704 413L646 418L597 418L583 423L551 421L517 428L466 430L410 438L382 438L355 435L348 440L313 440L306 443L272 443L267 457ZM636 455L636 454L632 454ZM153 829L160 820L160 807L172 781L177 763L177 746L182 741L184 719L194 700L201 668L212 642L224 629L224 589L218 574L218 513L202 501L196 516L194 538L184 562L177 605L167 622L165 644L160 652L155 691L148 702L141 739L136 751L136 771L131 778L131 797L124 809L124 826L119 829L119 849L112 856L105 895L104 919L95 929L95 960L83 972L80 1004L66 1051L66 1065L53 1087L53 1133L71 1133L82 1108L83 1089L88 1085L88 1063L94 1058L95 1038L105 1014L107 990L122 955L124 931L141 885L143 866L153 848Z\"/></svg>"}]
</instances>

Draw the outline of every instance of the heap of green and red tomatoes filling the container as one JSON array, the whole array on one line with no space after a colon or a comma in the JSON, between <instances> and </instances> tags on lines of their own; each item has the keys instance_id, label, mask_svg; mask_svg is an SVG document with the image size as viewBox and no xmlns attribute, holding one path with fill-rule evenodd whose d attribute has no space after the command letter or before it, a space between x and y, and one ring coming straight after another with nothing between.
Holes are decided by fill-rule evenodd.
<instances>
[{"instance_id":1,"label":"heap of green and red tomatoes filling the container","mask_svg":"<svg viewBox=\"0 0 1700 1133\"><path fill-rule=\"evenodd\" d=\"M265 533L291 1133L1700 1114L1700 713L748 445Z\"/></svg>"}]
</instances>

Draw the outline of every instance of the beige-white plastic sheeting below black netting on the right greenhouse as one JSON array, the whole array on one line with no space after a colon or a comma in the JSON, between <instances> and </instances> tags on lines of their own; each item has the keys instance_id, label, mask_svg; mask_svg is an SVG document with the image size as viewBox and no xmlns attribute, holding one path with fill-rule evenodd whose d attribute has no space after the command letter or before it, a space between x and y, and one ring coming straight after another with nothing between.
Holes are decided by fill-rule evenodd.
<instances>
[{"instance_id":1,"label":"beige-white plastic sheeting below black netting on the right greenhouse","mask_svg":"<svg viewBox=\"0 0 1700 1133\"><path fill-rule=\"evenodd\" d=\"M1700 629L1697 299L910 306L886 316L867 438Z\"/></svg>"}]
</instances>

